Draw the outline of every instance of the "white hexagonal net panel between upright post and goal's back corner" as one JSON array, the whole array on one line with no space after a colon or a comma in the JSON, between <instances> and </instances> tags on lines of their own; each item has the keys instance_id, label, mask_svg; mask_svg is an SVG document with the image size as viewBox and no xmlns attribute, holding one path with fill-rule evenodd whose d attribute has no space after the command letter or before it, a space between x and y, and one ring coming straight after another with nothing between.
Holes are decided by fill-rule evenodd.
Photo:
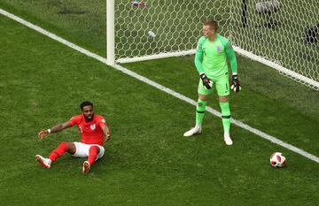
<instances>
[{"instance_id":1,"label":"white hexagonal net panel between upright post and goal's back corner","mask_svg":"<svg viewBox=\"0 0 319 206\"><path fill-rule=\"evenodd\" d=\"M200 35L200 22L207 17L220 20L224 34L230 1L222 2L164 0L138 5L141 1L115 1L116 58L192 50Z\"/></svg>"}]
</instances>

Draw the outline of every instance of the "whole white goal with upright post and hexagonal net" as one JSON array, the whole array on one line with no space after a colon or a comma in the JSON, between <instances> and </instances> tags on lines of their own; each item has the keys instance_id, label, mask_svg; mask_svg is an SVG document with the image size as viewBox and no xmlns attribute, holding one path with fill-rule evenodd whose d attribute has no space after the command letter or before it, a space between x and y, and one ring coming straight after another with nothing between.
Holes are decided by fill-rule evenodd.
<instances>
[{"instance_id":1,"label":"whole white goal with upright post and hexagonal net","mask_svg":"<svg viewBox=\"0 0 319 206\"><path fill-rule=\"evenodd\" d=\"M106 0L107 64L192 55L215 19L237 54L319 90L318 11L316 0Z\"/></svg>"}]
</instances>

